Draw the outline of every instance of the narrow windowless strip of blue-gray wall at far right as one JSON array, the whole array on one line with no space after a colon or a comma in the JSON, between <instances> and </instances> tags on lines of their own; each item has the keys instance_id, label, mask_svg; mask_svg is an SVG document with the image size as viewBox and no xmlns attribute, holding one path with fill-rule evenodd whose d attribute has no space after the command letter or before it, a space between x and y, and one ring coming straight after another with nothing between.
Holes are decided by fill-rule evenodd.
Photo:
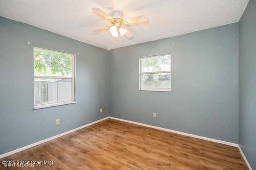
<instances>
[{"instance_id":1,"label":"narrow windowless strip of blue-gray wall at far right","mask_svg":"<svg viewBox=\"0 0 256 170\"><path fill-rule=\"evenodd\" d=\"M250 0L238 23L239 146L256 170L256 0Z\"/></svg>"}]
</instances>

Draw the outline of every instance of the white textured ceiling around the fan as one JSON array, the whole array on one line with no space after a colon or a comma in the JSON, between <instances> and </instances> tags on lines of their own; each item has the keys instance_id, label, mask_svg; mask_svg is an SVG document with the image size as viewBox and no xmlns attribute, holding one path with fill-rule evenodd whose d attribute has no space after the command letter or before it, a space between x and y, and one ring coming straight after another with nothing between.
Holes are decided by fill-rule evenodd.
<instances>
[{"instance_id":1,"label":"white textured ceiling around the fan","mask_svg":"<svg viewBox=\"0 0 256 170\"><path fill-rule=\"evenodd\" d=\"M173 37L238 22L249 0L0 0L0 16L27 23L104 49ZM148 16L149 21L130 24L134 35L112 37L110 25L91 8L111 16L119 10L123 18Z\"/></svg>"}]
</instances>

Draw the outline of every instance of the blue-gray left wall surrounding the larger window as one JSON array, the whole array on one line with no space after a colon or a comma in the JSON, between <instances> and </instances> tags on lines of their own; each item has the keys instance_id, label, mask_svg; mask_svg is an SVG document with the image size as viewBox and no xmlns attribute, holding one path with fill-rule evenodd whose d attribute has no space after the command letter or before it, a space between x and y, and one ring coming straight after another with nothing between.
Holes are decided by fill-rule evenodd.
<instances>
[{"instance_id":1,"label":"blue-gray left wall surrounding the larger window","mask_svg":"<svg viewBox=\"0 0 256 170\"><path fill-rule=\"evenodd\" d=\"M33 110L32 45L79 53L76 104ZM108 94L107 50L0 17L0 155L109 116Z\"/></svg>"}]
</instances>

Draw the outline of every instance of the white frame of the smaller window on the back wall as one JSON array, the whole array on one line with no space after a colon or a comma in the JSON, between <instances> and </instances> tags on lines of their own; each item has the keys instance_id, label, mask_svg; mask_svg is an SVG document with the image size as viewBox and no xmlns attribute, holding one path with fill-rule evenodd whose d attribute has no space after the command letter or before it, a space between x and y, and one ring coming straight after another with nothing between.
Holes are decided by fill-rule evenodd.
<instances>
[{"instance_id":1,"label":"white frame of the smaller window on the back wall","mask_svg":"<svg viewBox=\"0 0 256 170\"><path fill-rule=\"evenodd\" d=\"M159 57L163 55L170 55L170 71L152 71L152 72L143 72L142 68L142 59L151 58L151 57ZM171 92L172 91L172 53L162 54L162 55L153 55L147 57L139 57L139 90L140 91L156 91L156 92ZM159 74L159 73L170 73L170 88L143 88L143 74Z\"/></svg>"}]
</instances>

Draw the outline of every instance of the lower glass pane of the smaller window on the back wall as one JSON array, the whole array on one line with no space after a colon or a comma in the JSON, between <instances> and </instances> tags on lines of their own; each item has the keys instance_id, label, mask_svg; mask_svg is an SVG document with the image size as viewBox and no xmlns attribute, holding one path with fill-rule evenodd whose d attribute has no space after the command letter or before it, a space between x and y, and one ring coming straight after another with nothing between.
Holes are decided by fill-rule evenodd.
<instances>
[{"instance_id":1,"label":"lower glass pane of the smaller window on the back wall","mask_svg":"<svg viewBox=\"0 0 256 170\"><path fill-rule=\"evenodd\" d=\"M170 73L142 74L142 88L170 88Z\"/></svg>"}]
</instances>

